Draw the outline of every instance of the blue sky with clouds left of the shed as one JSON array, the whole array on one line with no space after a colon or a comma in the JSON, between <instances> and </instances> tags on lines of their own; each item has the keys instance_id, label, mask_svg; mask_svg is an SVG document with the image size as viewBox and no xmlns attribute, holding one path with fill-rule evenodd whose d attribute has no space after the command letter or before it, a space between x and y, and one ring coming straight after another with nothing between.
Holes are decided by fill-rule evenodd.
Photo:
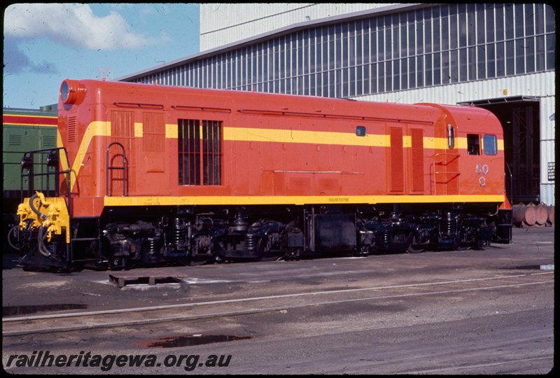
<instances>
[{"instance_id":1,"label":"blue sky with clouds left of the shed","mask_svg":"<svg viewBox=\"0 0 560 378\"><path fill-rule=\"evenodd\" d=\"M3 8L3 107L56 104L60 84L199 52L194 3L14 3Z\"/></svg>"}]
</instances>

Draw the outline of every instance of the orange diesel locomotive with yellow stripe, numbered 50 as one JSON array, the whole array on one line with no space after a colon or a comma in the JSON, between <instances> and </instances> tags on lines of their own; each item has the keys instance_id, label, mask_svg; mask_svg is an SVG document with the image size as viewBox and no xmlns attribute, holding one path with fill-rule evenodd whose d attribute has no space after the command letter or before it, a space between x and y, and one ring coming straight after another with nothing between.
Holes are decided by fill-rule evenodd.
<instances>
[{"instance_id":1,"label":"orange diesel locomotive with yellow stripe, numbered 50","mask_svg":"<svg viewBox=\"0 0 560 378\"><path fill-rule=\"evenodd\" d=\"M510 240L503 130L484 109L64 80L58 111L57 193L32 188L37 151L22 159L27 267Z\"/></svg>"}]
</instances>

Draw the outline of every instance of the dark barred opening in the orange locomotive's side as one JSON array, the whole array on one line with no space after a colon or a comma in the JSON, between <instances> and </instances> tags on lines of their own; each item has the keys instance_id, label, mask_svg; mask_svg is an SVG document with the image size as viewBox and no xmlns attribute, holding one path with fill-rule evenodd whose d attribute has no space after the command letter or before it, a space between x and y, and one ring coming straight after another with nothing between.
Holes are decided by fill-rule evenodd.
<instances>
[{"instance_id":1,"label":"dark barred opening in the orange locomotive's side","mask_svg":"<svg viewBox=\"0 0 560 378\"><path fill-rule=\"evenodd\" d=\"M179 120L178 126L179 185L221 185L222 122Z\"/></svg>"}]
</instances>

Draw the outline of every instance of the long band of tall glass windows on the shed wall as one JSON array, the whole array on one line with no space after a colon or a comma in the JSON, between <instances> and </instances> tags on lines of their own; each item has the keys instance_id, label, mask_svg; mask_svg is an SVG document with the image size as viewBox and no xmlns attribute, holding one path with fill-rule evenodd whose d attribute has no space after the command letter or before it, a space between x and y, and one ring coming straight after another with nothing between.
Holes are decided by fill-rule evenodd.
<instances>
[{"instance_id":1,"label":"long band of tall glass windows on the shed wall","mask_svg":"<svg viewBox=\"0 0 560 378\"><path fill-rule=\"evenodd\" d=\"M433 4L193 59L179 80L174 69L137 80L323 97L414 90L554 71L555 31L548 4Z\"/></svg>"}]
</instances>

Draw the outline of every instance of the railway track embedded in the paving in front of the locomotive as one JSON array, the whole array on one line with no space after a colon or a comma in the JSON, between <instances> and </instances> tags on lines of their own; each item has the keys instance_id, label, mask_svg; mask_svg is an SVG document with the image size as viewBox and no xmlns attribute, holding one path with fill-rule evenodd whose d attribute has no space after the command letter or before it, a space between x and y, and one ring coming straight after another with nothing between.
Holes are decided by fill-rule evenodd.
<instances>
[{"instance_id":1,"label":"railway track embedded in the paving in front of the locomotive","mask_svg":"<svg viewBox=\"0 0 560 378\"><path fill-rule=\"evenodd\" d=\"M2 335L10 337L39 333L71 332L114 327L143 326L153 323L198 321L201 319L274 311L292 311L351 302L388 302L411 297L462 295L480 290L502 290L524 286L554 285L554 271L531 271L473 279L449 279L387 286L307 291L282 295L236 297L227 300L197 300L183 304L153 307L72 311L34 316L6 316ZM125 320L123 320L125 319Z\"/></svg>"}]
</instances>

